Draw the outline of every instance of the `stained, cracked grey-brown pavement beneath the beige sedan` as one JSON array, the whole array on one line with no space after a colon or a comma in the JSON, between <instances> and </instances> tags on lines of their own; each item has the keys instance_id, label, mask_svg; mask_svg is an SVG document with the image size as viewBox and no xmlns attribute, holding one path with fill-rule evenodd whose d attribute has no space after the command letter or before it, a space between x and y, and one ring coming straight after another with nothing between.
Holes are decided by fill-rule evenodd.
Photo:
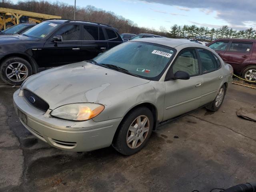
<instances>
[{"instance_id":1,"label":"stained, cracked grey-brown pavement beneath the beige sedan","mask_svg":"<svg viewBox=\"0 0 256 192\"><path fill-rule=\"evenodd\" d=\"M256 90L231 85L218 112L202 108L159 127L146 147L122 156L52 148L22 126L17 89L0 83L1 192L208 192L256 181L256 122L236 116L256 105Z\"/></svg>"}]
</instances>

